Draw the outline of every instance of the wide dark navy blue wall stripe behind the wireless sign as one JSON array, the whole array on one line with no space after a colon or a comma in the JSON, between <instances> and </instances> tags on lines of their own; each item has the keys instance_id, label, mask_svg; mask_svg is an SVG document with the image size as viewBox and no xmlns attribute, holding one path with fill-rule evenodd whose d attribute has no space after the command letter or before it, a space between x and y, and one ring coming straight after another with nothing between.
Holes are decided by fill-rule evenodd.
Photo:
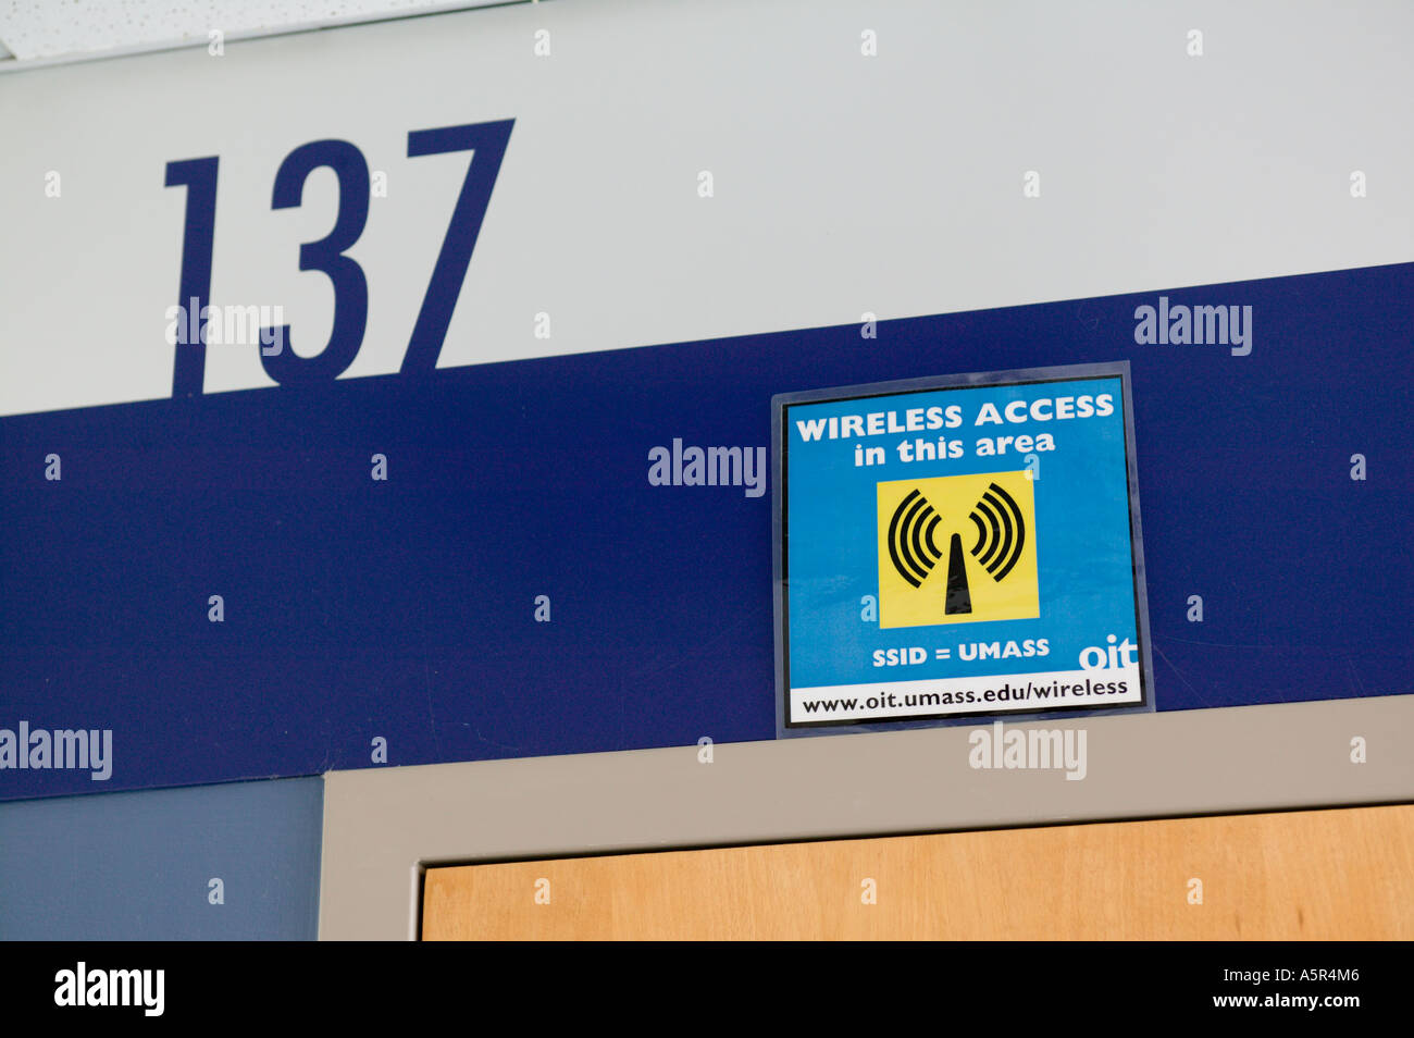
<instances>
[{"instance_id":1,"label":"wide dark navy blue wall stripe behind the wireless sign","mask_svg":"<svg viewBox=\"0 0 1414 1038\"><path fill-rule=\"evenodd\" d=\"M1250 355L1137 344L1161 294L1253 307ZM649 485L650 448L769 444L781 392L1118 359L1157 708L1410 692L1411 338L1406 263L8 417L0 727L112 728L113 789L366 768L378 737L772 738L771 496Z\"/></svg>"}]
</instances>

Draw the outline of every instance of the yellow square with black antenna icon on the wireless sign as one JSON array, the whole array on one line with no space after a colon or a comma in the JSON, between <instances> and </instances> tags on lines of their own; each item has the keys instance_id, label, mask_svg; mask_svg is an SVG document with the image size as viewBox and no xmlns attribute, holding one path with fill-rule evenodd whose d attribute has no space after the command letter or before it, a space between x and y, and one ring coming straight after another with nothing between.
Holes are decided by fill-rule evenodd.
<instances>
[{"instance_id":1,"label":"yellow square with black antenna icon on the wireless sign","mask_svg":"<svg viewBox=\"0 0 1414 1038\"><path fill-rule=\"evenodd\" d=\"M1036 503L1025 471L878 489L880 626L1034 619Z\"/></svg>"}]
</instances>

